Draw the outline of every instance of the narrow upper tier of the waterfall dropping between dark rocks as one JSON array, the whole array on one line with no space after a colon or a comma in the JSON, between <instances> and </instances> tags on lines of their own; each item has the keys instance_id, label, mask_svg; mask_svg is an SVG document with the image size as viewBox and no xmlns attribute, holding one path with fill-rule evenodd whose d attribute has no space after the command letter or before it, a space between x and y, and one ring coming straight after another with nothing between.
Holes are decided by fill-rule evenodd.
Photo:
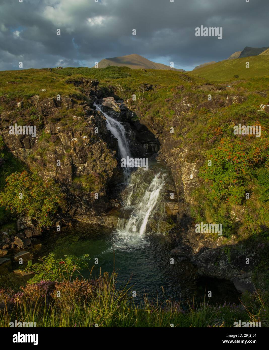
<instances>
[{"instance_id":1,"label":"narrow upper tier of the waterfall dropping between dark rocks","mask_svg":"<svg viewBox=\"0 0 269 350\"><path fill-rule=\"evenodd\" d=\"M106 127L111 132L111 134L118 140L119 156L120 159L127 159L127 156L131 157L131 151L129 147L129 141L126 138L126 131L124 126L117 120L109 117L109 115L102 111L101 107L94 103L97 111L103 113L106 118ZM123 168L125 182L129 183L130 180L130 168Z\"/></svg>"}]
</instances>

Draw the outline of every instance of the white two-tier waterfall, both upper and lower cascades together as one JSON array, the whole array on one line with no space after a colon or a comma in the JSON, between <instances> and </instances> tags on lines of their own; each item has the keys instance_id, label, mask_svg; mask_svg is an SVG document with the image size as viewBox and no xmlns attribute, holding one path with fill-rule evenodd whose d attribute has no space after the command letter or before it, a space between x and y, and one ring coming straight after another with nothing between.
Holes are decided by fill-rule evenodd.
<instances>
[{"instance_id":1,"label":"white two-tier waterfall, both upper and lower cascades together","mask_svg":"<svg viewBox=\"0 0 269 350\"><path fill-rule=\"evenodd\" d=\"M95 106L105 116L108 130L118 139L120 157L125 159L127 156L130 157L131 151L124 126L119 121L104 113L100 106L97 104ZM127 195L125 196L126 207L123 210L126 208L130 209L131 206L132 212L129 219L118 219L118 227L112 241L114 248L128 250L148 244L144 239L144 235L152 214L156 213L161 207L159 200L165 184L164 179L166 174L158 173L152 178L152 172L150 170L137 169L132 174L130 174L129 168L124 168L124 170L128 187L126 188ZM146 176L146 182L150 182L147 187L145 186L145 181L143 181L144 174L148 175Z\"/></svg>"}]
</instances>

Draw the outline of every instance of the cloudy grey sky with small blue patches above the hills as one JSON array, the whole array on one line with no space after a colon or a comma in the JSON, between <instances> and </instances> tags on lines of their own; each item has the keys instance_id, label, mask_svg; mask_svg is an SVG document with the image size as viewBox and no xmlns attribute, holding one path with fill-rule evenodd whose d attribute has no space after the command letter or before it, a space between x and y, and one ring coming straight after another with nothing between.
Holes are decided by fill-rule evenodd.
<instances>
[{"instance_id":1,"label":"cloudy grey sky with small blue patches above the hills","mask_svg":"<svg viewBox=\"0 0 269 350\"><path fill-rule=\"evenodd\" d=\"M0 0L0 70L130 54L192 70L269 46L268 13L269 0ZM195 36L201 25L222 27L222 39Z\"/></svg>"}]
</instances>

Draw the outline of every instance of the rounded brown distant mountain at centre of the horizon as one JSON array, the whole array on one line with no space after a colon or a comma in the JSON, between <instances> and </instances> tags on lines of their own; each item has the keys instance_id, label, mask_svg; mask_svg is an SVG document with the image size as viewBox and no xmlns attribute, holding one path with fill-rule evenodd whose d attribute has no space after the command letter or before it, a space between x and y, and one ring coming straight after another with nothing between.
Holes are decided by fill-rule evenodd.
<instances>
[{"instance_id":1,"label":"rounded brown distant mountain at centre of the horizon","mask_svg":"<svg viewBox=\"0 0 269 350\"><path fill-rule=\"evenodd\" d=\"M171 68L170 66L162 63L152 62L149 59L137 54L122 57L104 58L98 63L98 68L105 68L109 65L118 67L127 66L131 69L169 69L185 72L184 69Z\"/></svg>"}]
</instances>

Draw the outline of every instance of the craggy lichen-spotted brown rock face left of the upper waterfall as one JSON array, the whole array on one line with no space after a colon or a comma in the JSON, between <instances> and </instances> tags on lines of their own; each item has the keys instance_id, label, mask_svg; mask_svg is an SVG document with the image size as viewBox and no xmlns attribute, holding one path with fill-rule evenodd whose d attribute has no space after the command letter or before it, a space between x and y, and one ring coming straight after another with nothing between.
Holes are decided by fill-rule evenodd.
<instances>
[{"instance_id":1,"label":"craggy lichen-spotted brown rock face left of the upper waterfall","mask_svg":"<svg viewBox=\"0 0 269 350\"><path fill-rule=\"evenodd\" d=\"M78 101L68 96L61 96L60 100L51 97L42 101L38 95L30 98L28 103L35 106L44 123L43 133L42 128L37 126L36 137L10 135L9 126L18 121L17 114L15 111L1 114L0 128L7 147L16 158L34 168L44 179L53 177L61 184L70 197L70 215L81 212L80 207L89 215L93 214L93 208L99 208L99 212L102 212L112 207L108 203L106 188L116 172L117 142L112 142L111 147L106 119L93 106L94 98L101 94L96 89L98 83L96 79L76 82L88 92L88 101ZM20 113L23 117L27 109L21 109ZM101 173L102 178L98 175ZM98 192L99 197L95 203L92 203L93 198L89 193L83 196L80 188L74 184L74 179L81 177L86 183L88 178L92 179L91 192ZM39 234L27 218L18 220L18 230L25 230L27 237ZM19 237L15 238L14 244L20 248L26 246Z\"/></svg>"}]
</instances>

